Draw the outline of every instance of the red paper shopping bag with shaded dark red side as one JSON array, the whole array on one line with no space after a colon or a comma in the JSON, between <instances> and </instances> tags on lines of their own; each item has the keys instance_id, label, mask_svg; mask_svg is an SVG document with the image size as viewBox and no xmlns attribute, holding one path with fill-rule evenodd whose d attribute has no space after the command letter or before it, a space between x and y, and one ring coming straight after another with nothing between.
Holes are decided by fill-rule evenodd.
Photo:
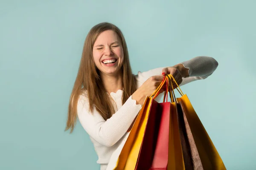
<instances>
[{"instance_id":1,"label":"red paper shopping bag with shaded dark red side","mask_svg":"<svg viewBox=\"0 0 256 170\"><path fill-rule=\"evenodd\" d=\"M168 145L168 136L169 136L168 135L169 134L168 117L170 114L170 103L169 102L163 103L163 106L166 106L166 107L163 107L157 101L154 100L158 96L163 85L166 83L166 86L168 86L168 82L166 82L166 80L168 80L167 77L163 79L163 82L159 85L156 91L154 91L154 93L151 94L150 96L150 98L152 98L153 101L152 101L150 113L148 116L148 122L146 125L143 142L141 144L140 154L138 156L138 161L137 161L135 170L152 169L153 167L151 165L152 165L153 159L155 160L155 164L159 164L160 163L159 161L166 161L166 165L167 165L168 148L167 150L165 148L164 150L161 150L161 152L157 152L157 153L155 153L155 151L159 150L159 148L156 149L157 139L159 138L161 138L162 146L164 145L164 143ZM162 127L160 127L160 122L161 121L163 122L165 120L167 121L167 124L162 123L161 124ZM162 133L162 136L159 137L159 130L165 130L167 133ZM162 151L165 152L165 154L163 154ZM161 156L160 159L154 158L155 155L158 155L157 158L159 158L159 155L160 155ZM164 157L166 157L166 160L163 159Z\"/></svg>"}]
</instances>

